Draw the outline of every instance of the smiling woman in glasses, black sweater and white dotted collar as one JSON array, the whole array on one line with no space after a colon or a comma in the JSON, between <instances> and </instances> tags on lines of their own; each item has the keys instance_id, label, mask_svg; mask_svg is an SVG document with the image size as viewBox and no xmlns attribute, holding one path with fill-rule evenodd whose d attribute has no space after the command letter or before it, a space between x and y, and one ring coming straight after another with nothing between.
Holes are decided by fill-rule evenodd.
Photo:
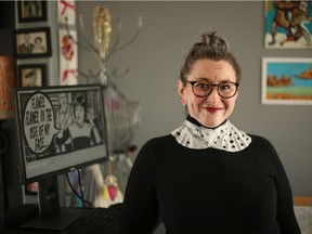
<instances>
[{"instance_id":1,"label":"smiling woman in glasses, black sweater and white dotted collar","mask_svg":"<svg viewBox=\"0 0 312 234\"><path fill-rule=\"evenodd\" d=\"M185 58L178 92L187 118L140 151L116 233L299 234L292 195L272 144L231 123L240 68L209 30Z\"/></svg>"}]
</instances>

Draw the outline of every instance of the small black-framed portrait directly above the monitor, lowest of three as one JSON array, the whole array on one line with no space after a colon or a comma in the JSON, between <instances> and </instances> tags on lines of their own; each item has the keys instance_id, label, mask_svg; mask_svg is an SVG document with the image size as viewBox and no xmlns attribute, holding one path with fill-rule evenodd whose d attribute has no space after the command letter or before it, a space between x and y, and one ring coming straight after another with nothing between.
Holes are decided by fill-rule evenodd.
<instances>
[{"instance_id":1,"label":"small black-framed portrait directly above the monitor, lowest of three","mask_svg":"<svg viewBox=\"0 0 312 234\"><path fill-rule=\"evenodd\" d=\"M32 64L18 66L18 87L47 86L47 65Z\"/></svg>"}]
</instances>

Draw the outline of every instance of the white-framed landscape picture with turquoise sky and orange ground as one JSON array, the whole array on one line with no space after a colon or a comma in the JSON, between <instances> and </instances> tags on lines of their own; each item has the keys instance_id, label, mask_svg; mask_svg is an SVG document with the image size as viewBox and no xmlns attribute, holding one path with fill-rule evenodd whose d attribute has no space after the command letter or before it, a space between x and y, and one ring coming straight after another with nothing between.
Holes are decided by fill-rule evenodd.
<instances>
[{"instance_id":1,"label":"white-framed landscape picture with turquoise sky and orange ground","mask_svg":"<svg viewBox=\"0 0 312 234\"><path fill-rule=\"evenodd\" d=\"M312 105L312 58L263 57L262 103Z\"/></svg>"}]
</instances>

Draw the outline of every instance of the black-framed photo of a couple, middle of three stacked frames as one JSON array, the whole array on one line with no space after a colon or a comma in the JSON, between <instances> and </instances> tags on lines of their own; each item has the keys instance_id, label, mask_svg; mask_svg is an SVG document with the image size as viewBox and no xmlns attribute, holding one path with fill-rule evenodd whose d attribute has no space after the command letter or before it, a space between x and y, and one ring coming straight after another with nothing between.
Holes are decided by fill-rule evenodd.
<instances>
[{"instance_id":1,"label":"black-framed photo of a couple, middle of three stacked frames","mask_svg":"<svg viewBox=\"0 0 312 234\"><path fill-rule=\"evenodd\" d=\"M49 27L17 29L15 53L17 58L48 57L52 55Z\"/></svg>"}]
</instances>

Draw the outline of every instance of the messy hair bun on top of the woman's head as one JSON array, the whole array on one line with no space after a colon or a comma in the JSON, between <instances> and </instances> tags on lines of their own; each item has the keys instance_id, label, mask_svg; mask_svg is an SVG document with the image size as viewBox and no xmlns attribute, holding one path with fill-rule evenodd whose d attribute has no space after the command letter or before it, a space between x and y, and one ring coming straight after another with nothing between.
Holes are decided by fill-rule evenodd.
<instances>
[{"instance_id":1,"label":"messy hair bun on top of the woman's head","mask_svg":"<svg viewBox=\"0 0 312 234\"><path fill-rule=\"evenodd\" d=\"M229 51L230 49L229 42L224 38L220 37L214 28L210 28L208 31L204 31L200 38L202 42L208 47L220 48L225 51Z\"/></svg>"}]
</instances>

